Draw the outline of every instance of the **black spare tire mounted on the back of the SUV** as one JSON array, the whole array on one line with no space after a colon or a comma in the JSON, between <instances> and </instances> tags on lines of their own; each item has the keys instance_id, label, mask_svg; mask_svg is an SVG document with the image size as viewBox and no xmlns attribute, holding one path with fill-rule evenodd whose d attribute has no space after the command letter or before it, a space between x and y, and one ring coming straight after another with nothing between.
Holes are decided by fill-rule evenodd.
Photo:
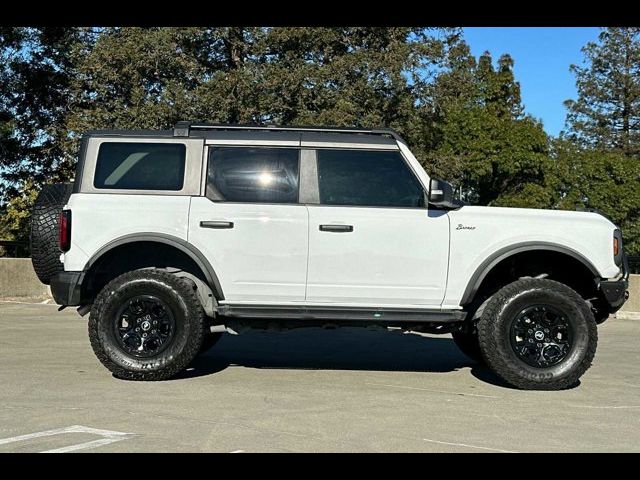
<instances>
[{"instance_id":1,"label":"black spare tire mounted on the back of the SUV","mask_svg":"<svg viewBox=\"0 0 640 480\"><path fill-rule=\"evenodd\" d=\"M72 189L72 183L45 185L33 205L29 237L31 263L40 281L46 285L56 273L64 270L60 262L58 222Z\"/></svg>"}]
</instances>

